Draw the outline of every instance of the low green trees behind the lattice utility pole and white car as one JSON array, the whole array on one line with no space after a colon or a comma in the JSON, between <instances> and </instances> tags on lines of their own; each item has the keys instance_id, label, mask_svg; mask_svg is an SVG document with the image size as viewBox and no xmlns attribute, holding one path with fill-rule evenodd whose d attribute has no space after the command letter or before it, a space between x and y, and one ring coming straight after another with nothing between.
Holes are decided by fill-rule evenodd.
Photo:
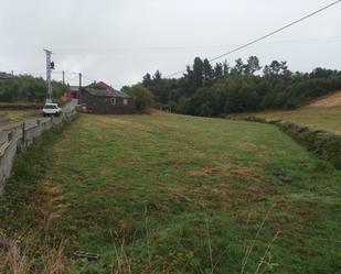
<instances>
[{"instance_id":1,"label":"low green trees behind the lattice utility pole and white car","mask_svg":"<svg viewBox=\"0 0 341 274\"><path fill-rule=\"evenodd\" d=\"M52 81L52 87L54 98L60 98L67 88L60 81ZM46 81L41 77L19 75L0 80L1 102L42 102L45 98Z\"/></svg>"}]
</instances>

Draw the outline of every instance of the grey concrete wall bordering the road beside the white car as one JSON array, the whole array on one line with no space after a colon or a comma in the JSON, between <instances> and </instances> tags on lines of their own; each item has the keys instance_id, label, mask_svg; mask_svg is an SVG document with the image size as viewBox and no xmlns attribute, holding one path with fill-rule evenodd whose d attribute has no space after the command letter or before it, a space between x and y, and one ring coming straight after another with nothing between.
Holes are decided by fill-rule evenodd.
<instances>
[{"instance_id":1,"label":"grey concrete wall bordering the road beside the white car","mask_svg":"<svg viewBox=\"0 0 341 274\"><path fill-rule=\"evenodd\" d=\"M29 119L25 122L8 124L0 129L0 195L3 193L6 179L11 174L18 147L24 150L45 131L62 125L76 113L75 109L70 109L61 117Z\"/></svg>"}]
</instances>

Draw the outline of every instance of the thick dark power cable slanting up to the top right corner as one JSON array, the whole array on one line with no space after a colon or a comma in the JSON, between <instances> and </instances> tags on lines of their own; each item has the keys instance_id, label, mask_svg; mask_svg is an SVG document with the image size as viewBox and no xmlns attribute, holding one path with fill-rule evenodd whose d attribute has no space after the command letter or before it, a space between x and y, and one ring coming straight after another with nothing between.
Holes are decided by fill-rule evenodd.
<instances>
[{"instance_id":1,"label":"thick dark power cable slanting up to the top right corner","mask_svg":"<svg viewBox=\"0 0 341 274\"><path fill-rule=\"evenodd\" d=\"M301 21L303 21L303 20L307 20L307 19L309 19L309 18L311 18L311 17L313 17L313 15L316 15L316 14L318 14L318 13L320 13L320 12L322 12L322 11L324 11L324 10L327 10L327 9L329 9L329 8L331 8L331 7L335 6L335 4L338 4L338 3L340 3L340 2L341 2L341 0L338 0L338 1L335 1L335 2L332 2L332 3L330 3L330 4L328 4L328 6L326 6L326 7L321 8L321 9L319 9L319 10L317 10L317 11L315 11L315 12L309 13L309 14L306 15L306 17L302 17L302 18L300 18L300 19L298 19L298 20L296 20L296 21L294 21L294 22L291 22L291 23L289 23L289 24L286 24L285 26L281 26L281 28L279 28L279 29L277 29L277 30L275 30L275 31L273 31L273 32L270 32L270 33L268 33L268 34L266 34L266 35L264 35L264 36L262 36L262 37L259 37L259 39L253 40L253 41L251 41L249 43L246 43L246 44L244 44L244 45L241 45L241 46L238 46L238 47L236 47L236 48L234 48L234 50L232 50L232 51L230 51L230 52L227 52L227 53L224 53L224 54L221 54L221 55L219 55L219 56L216 56L216 57L213 57L213 58L209 59L209 62L211 63L211 62L213 62L213 61L216 61L216 59L220 59L220 58L222 58L222 57L224 57L224 56L227 56L227 55L230 55L230 54L232 54L232 53L235 53L235 52L237 52L237 51L241 51L241 50L243 50L243 48L245 48L245 47L248 47L248 46L251 46L251 45L253 45L253 44L256 44L257 42L259 42L259 41L262 41L262 40L265 40L265 39L267 39L267 37L269 37L269 36L273 36L274 34L276 34L276 33L278 33L278 32L281 32L281 31L284 31L284 30L286 30L286 29L288 29L288 28L290 28L290 26L292 26L292 25L295 25L295 24L297 24L297 23L299 23L299 22L301 22ZM185 69L182 69L182 70L175 72L175 73L173 73L173 74L167 75L166 77L167 77L167 78L168 78L168 77L172 77L172 76L175 76L175 75L178 75L178 74L182 74L182 73L184 73L184 72L185 72Z\"/></svg>"}]
</instances>

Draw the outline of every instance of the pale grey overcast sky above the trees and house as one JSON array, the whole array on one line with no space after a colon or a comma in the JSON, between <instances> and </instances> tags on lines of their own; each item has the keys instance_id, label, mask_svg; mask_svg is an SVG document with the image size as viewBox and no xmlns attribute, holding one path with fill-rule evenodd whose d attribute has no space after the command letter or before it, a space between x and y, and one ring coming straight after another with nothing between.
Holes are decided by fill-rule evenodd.
<instances>
[{"instance_id":1,"label":"pale grey overcast sky above the trees and house","mask_svg":"<svg viewBox=\"0 0 341 274\"><path fill-rule=\"evenodd\" d=\"M0 72L44 77L43 47L55 54L53 78L119 88L147 73L181 70L214 57L333 0L0 0ZM287 61L292 70L341 69L341 3L227 56ZM222 59L223 61L223 59Z\"/></svg>"}]
</instances>

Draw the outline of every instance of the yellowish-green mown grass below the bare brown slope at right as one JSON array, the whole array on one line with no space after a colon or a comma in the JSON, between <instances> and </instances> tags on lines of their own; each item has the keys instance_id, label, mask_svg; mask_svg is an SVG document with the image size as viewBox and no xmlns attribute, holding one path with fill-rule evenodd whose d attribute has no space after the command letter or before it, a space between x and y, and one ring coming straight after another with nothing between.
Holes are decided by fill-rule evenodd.
<instances>
[{"instance_id":1,"label":"yellowish-green mown grass below the bare brown slope at right","mask_svg":"<svg viewBox=\"0 0 341 274\"><path fill-rule=\"evenodd\" d=\"M341 107L305 107L290 111L264 111L242 116L255 116L266 120L283 120L326 130L341 135Z\"/></svg>"}]
</instances>

